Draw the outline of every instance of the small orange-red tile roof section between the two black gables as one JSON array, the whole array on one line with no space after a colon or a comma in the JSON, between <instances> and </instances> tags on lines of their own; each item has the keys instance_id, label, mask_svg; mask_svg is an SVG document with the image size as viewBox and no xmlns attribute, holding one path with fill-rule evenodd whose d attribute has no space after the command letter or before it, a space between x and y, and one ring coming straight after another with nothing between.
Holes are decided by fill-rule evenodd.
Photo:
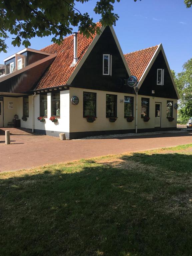
<instances>
[{"instance_id":1,"label":"small orange-red tile roof section between the two black gables","mask_svg":"<svg viewBox=\"0 0 192 256\"><path fill-rule=\"evenodd\" d=\"M138 81L143 75L147 65L153 57L158 45L140 51L124 54L131 75L136 76Z\"/></svg>"}]
</instances>

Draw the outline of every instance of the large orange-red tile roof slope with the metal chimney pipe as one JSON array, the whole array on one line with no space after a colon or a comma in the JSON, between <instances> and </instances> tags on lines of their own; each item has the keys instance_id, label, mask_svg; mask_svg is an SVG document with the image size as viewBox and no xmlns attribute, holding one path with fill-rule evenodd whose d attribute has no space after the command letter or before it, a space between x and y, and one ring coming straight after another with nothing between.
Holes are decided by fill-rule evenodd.
<instances>
[{"instance_id":1,"label":"large orange-red tile roof slope with the metal chimney pipe","mask_svg":"<svg viewBox=\"0 0 192 256\"><path fill-rule=\"evenodd\" d=\"M101 23L97 23L97 26L101 28ZM78 48L77 48L77 57L78 65L79 61L87 51L89 45L95 38L96 33L92 35L92 38L86 38L83 34L78 32ZM38 85L36 86L36 90L50 88L55 86L65 85L71 74L73 73L75 67L70 67L73 62L73 35L70 35L64 38L63 42L58 45L56 43L51 44L41 51L48 52L48 53L58 53L57 57L53 61L53 63L48 68L45 75L42 77Z\"/></svg>"}]
</instances>

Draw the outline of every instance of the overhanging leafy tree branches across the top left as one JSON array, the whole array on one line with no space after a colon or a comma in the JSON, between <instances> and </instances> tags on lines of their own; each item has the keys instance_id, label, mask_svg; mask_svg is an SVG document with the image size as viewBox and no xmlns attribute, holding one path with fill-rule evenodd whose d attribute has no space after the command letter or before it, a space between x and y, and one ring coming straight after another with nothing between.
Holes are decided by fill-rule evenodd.
<instances>
[{"instance_id":1,"label":"overhanging leafy tree branches across the top left","mask_svg":"<svg viewBox=\"0 0 192 256\"><path fill-rule=\"evenodd\" d=\"M80 33L89 37L100 30L87 12L75 8L76 2L90 0L4 0L0 2L0 52L7 52L6 39L12 39L13 46L30 46L35 36L53 35L52 42L61 43L63 37L72 34L71 26L78 26ZM115 25L119 16L114 13L113 4L120 0L100 0L94 8L101 15L102 25Z\"/></svg>"}]
</instances>

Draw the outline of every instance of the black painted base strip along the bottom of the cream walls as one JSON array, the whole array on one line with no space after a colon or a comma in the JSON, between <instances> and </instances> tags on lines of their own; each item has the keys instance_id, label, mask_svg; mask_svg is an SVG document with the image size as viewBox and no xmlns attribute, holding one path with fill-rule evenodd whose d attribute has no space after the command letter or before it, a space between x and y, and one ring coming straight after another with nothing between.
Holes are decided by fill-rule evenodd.
<instances>
[{"instance_id":1,"label":"black painted base strip along the bottom of the cream walls","mask_svg":"<svg viewBox=\"0 0 192 256\"><path fill-rule=\"evenodd\" d=\"M176 127L169 128L149 128L149 129L138 129L138 133L142 132L156 132L156 131L173 131L177 130ZM99 135L111 135L111 134L126 134L126 133L135 133L135 129L131 130L108 130L108 131L92 131L92 132L57 132L57 131L48 131L48 130L34 130L35 133L59 137L59 133L65 133L66 139L79 139L89 136L99 136Z\"/></svg>"}]
</instances>

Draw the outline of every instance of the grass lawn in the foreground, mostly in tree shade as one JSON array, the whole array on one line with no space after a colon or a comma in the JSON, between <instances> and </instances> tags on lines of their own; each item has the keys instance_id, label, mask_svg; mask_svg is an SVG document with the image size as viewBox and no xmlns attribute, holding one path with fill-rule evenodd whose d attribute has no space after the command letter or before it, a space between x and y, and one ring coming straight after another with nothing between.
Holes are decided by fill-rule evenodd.
<instances>
[{"instance_id":1,"label":"grass lawn in the foreground, mostly in tree shade","mask_svg":"<svg viewBox=\"0 0 192 256\"><path fill-rule=\"evenodd\" d=\"M2 256L189 256L192 144L0 174Z\"/></svg>"}]
</instances>

